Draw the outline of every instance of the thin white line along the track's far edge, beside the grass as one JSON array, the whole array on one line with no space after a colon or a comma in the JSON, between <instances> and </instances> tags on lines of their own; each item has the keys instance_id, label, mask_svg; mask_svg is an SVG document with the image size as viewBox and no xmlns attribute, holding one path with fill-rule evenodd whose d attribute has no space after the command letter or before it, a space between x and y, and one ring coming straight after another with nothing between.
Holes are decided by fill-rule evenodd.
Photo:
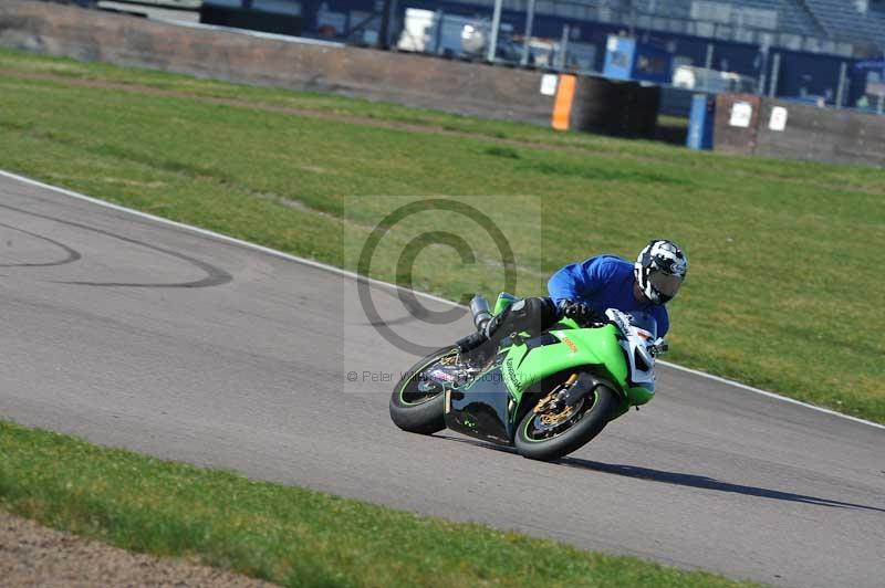
<instances>
[{"instance_id":1,"label":"thin white line along the track's far edge, beside the grass","mask_svg":"<svg viewBox=\"0 0 885 588\"><path fill-rule=\"evenodd\" d=\"M278 251L275 249L266 248L263 245L258 245L256 243L250 243L249 241L242 241L240 239L235 239L232 237L228 237L228 235L225 235L225 234L221 234L221 233L216 233L214 231L209 231L209 230L206 230L206 229L200 229L199 227L194 227L194 225L190 225L190 224L185 224L183 222L177 222L177 221L174 221L174 220L164 219L162 217L156 217L154 214L148 214L147 212L140 212L138 210L133 210L131 208L122 207L119 204L114 204L114 203L111 203L111 202L107 202L107 201L104 201L104 200L98 200L97 198L93 198L91 196L85 196L85 195L82 195L82 193L79 193L79 192L74 192L72 190L66 190L64 188L59 188L58 186L51 186L49 183L43 183L42 181L38 181L38 180L34 180L34 179L31 179L31 178L27 178L24 176L19 176L18 174L12 174L10 171L4 171L2 169L0 169L0 176L4 176L7 178L11 178L13 180L21 181L22 183L30 183L31 186L38 186L38 187L46 189L46 190L53 190L53 191L56 191L56 192L62 193L64 196L69 196L71 198L76 198L79 200L85 200L86 202L92 202L93 204L97 204L100 207L105 207L105 208L110 208L110 209L113 209L113 210L118 210L121 212L126 212L128 214L134 214L134 216L140 217L143 219L149 219L149 220L152 220L154 222L157 222L159 224L167 224L167 225L170 225L170 227L176 227L178 229L183 229L185 231L189 231L189 232L192 232L192 233L201 234L204 237L210 237L210 238L212 238L212 239L215 239L217 241L222 241L222 242L236 244L236 245L239 245L239 246L242 246L242 248L260 251L262 253L267 253L268 255L273 255L275 258L281 258L281 259L284 259L284 260L288 260L288 261L300 263L302 265L309 265L311 267L317 267L320 270L325 270L327 272L336 273L336 274L340 274L340 275L346 275L348 277L353 277L354 280L360 277L355 272L343 270L343 269L336 267L334 265L329 265L327 263L321 263L319 261L313 261L313 260L309 260L309 259L305 259L305 258L299 258L298 255L292 255L290 253L283 253L282 251ZM382 282L381 280L375 280L375 279L372 279L372 277L369 277L368 281L371 283L373 283L375 285L378 285L378 286L382 286L382 287L388 287L388 288L392 288L392 290L398 290L399 288L396 284L391 284L389 282ZM448 301L446 298L442 298L440 296L436 296L434 294L428 294L426 292L419 292L417 290L413 291L413 292L415 292L415 294L421 295L421 296L424 296L424 297L426 297L428 300L431 300L431 301L441 302L441 303L446 303L446 304L451 304L451 305L455 305L455 306L460 306L461 308L466 308L466 306L464 306L462 304L458 304L458 303L455 303L452 301ZM769 392L767 390L761 390L759 388L753 388L752 386L747 386L746 384L740 384L740 382L732 381L732 380L729 380L729 379L726 379L726 378L720 378L719 376L714 376L711 374L706 374L704 371L698 371L697 369L683 367L683 366L679 366L677 364L670 364L669 361L660 361L660 364L664 365L664 366L667 366L669 368L678 369L680 371L685 371L687 374L693 374L693 375L699 376L701 378L707 378L707 379L717 381L719 384L725 384L727 386L732 386L732 387L741 389L741 390L746 390L746 391L749 391L749 392L754 392L754 393L758 393L758 395L767 396L769 398L774 398L774 399L781 400L783 402L789 402L791 405L798 405L800 407L805 407L805 408L809 408L811 410L816 410L819 412L824 412L826 414L832 414L834 417L841 417L843 419L848 419L848 420L854 421L854 422L868 424L870 427L875 427L877 429L885 429L885 424L879 424L877 422L867 421L867 420L864 420L864 419L858 419L857 417L852 417L850 414L843 414L842 412L837 412L835 410L830 410L827 408L815 407L814 405L809 405L808 402L802 402L801 400L795 400L793 398L788 398L785 396L781 396L781 395L775 393L775 392Z\"/></svg>"}]
</instances>

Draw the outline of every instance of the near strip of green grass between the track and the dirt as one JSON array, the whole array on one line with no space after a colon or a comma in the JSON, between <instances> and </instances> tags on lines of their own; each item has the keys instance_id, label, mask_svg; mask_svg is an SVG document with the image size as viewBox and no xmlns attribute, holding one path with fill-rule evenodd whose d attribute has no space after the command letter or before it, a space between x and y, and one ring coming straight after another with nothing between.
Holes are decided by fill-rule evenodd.
<instances>
[{"instance_id":1,"label":"near strip of green grass between the track and the dirt","mask_svg":"<svg viewBox=\"0 0 885 588\"><path fill-rule=\"evenodd\" d=\"M128 549L192 557L288 586L750 586L3 421L0 507Z\"/></svg>"}]
</instances>

